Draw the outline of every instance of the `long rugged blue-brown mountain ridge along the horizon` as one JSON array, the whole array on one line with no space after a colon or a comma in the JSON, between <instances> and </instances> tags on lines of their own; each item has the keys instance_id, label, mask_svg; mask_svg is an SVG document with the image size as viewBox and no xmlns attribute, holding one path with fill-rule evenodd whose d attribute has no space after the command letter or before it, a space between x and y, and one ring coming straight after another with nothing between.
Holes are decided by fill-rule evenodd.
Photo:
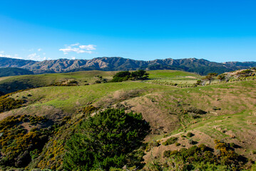
<instances>
[{"instance_id":1,"label":"long rugged blue-brown mountain ridge along the horizon","mask_svg":"<svg viewBox=\"0 0 256 171\"><path fill-rule=\"evenodd\" d=\"M62 73L72 71L101 70L101 71L127 71L127 70L181 70L205 75L207 73L224 73L255 67L256 62L225 62L216 63L205 59L155 59L153 61L138 61L121 57L98 57L91 60L61 58L48 61L31 61L15 58L0 57L0 68L24 68L34 73Z\"/></svg>"}]
</instances>

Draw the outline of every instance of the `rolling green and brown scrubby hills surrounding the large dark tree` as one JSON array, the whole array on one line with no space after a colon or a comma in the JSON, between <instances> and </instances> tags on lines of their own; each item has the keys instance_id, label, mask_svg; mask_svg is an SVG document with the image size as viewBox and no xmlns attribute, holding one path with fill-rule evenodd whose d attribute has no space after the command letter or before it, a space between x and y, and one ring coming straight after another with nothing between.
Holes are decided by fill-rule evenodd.
<instances>
[{"instance_id":1,"label":"rolling green and brown scrubby hills surrounding the large dark tree","mask_svg":"<svg viewBox=\"0 0 256 171\"><path fill-rule=\"evenodd\" d=\"M1 96L1 102L21 102L17 108L5 109L0 114L2 169L26 167L27 170L63 170L71 168L67 166L70 163L68 161L77 158L74 167L83 165L79 157L90 150L72 151L72 144L80 145L79 148L83 149L83 140L87 139L79 138L88 133L83 130L87 120L90 120L88 116L98 117L98 112L108 111L109 108L125 110L126 113L141 113L150 125L150 133L145 136L140 147L136 146L133 152L124 153L127 160L118 158L121 164L115 162L115 157L113 160L99 157L99 160L108 158L108 162L102 162L101 165L114 163L111 170L122 170L124 165L128 170L255 168L255 75L251 74L247 80L242 77L191 87L189 85L203 77L184 71L147 72L149 80L121 83L95 83L100 79L110 80L116 73L112 71L34 75L39 79L35 83L45 81L41 87ZM252 72L255 73L255 70ZM11 78L19 79L22 83L24 77L31 76ZM6 83L11 83L11 78L3 81L9 80ZM76 85L43 86L47 83L66 83L61 82L65 80L72 80L71 83L76 81ZM170 86L168 83L187 87ZM98 118L95 123L100 121ZM97 131L102 129L102 132L90 138L102 138L105 135L102 126L115 124L108 122L109 118L98 125ZM115 137L110 133L107 131L106 139L99 142L102 147L106 147L101 149L106 150L104 155L113 152L108 149L115 147L115 141L112 140ZM108 140L111 144L104 146ZM71 152L68 153L71 157L67 158L67 152ZM143 162L145 165L140 165ZM101 166L96 167L101 169Z\"/></svg>"}]
</instances>

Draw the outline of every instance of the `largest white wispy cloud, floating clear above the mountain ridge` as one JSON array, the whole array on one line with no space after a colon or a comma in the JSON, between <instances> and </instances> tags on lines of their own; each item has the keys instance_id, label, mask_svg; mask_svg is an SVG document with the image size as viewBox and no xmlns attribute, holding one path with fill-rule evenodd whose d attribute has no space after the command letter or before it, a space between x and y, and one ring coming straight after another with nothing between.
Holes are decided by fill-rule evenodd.
<instances>
[{"instance_id":1,"label":"largest white wispy cloud, floating clear above the mountain ridge","mask_svg":"<svg viewBox=\"0 0 256 171\"><path fill-rule=\"evenodd\" d=\"M70 46L65 46L65 48L60 48L58 51L63 51L63 53L66 55L69 52L75 52L75 53L93 53L93 50L96 50L96 45L81 45L80 43L74 43Z\"/></svg>"}]
</instances>

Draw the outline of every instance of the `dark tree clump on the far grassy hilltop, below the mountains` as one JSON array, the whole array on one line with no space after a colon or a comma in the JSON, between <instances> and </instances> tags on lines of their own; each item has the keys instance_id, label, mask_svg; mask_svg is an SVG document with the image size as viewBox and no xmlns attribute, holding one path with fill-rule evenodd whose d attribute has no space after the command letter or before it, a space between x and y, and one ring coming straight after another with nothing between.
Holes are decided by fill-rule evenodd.
<instances>
[{"instance_id":1,"label":"dark tree clump on the far grassy hilltop, below the mountains","mask_svg":"<svg viewBox=\"0 0 256 171\"><path fill-rule=\"evenodd\" d=\"M122 81L128 81L128 80L146 80L148 79L148 73L146 73L143 70L138 70L134 72L129 72L129 71L121 71L115 74L113 76L113 80L111 82L122 82Z\"/></svg>"}]
</instances>

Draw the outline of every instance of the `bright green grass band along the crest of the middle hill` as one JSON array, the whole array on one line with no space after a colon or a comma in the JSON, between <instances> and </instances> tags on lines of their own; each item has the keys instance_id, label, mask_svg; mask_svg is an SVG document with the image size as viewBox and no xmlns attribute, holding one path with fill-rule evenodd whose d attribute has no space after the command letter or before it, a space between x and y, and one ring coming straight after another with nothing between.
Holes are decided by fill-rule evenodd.
<instances>
[{"instance_id":1,"label":"bright green grass band along the crest of the middle hill","mask_svg":"<svg viewBox=\"0 0 256 171\"><path fill-rule=\"evenodd\" d=\"M143 95L150 92L173 89L169 86L160 86L142 82L123 82L123 83L102 83L91 86L53 86L36 88L14 94L13 97L31 102L31 105L53 105L67 112L73 112L82 108L87 103L96 103L101 98L113 95L115 91L138 90ZM31 94L31 96L28 96ZM35 102L35 103L34 103Z\"/></svg>"}]
</instances>

